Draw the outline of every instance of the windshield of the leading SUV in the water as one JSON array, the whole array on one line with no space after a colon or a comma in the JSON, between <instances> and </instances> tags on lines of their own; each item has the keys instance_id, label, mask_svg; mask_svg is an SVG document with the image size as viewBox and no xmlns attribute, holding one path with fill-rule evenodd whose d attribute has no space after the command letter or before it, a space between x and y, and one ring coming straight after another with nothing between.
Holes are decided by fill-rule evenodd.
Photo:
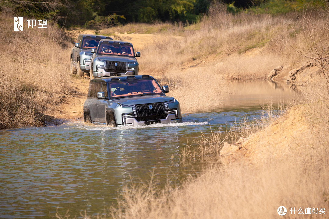
<instances>
[{"instance_id":1,"label":"windshield of the leading SUV in the water","mask_svg":"<svg viewBox=\"0 0 329 219\"><path fill-rule=\"evenodd\" d=\"M111 99L163 94L161 88L152 79L122 81L110 84Z\"/></svg>"}]
</instances>

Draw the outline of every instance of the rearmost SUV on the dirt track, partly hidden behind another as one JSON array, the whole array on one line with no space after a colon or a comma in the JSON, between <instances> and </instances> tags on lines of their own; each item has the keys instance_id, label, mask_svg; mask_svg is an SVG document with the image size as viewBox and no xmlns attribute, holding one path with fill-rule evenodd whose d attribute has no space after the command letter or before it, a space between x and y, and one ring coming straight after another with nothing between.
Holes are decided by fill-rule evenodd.
<instances>
[{"instance_id":1,"label":"rearmost SUV on the dirt track, partly hidden behind another","mask_svg":"<svg viewBox=\"0 0 329 219\"><path fill-rule=\"evenodd\" d=\"M71 50L70 57L70 72L71 74L78 74L83 76L84 72L89 74L90 58L92 48L97 48L101 39L112 39L109 36L95 35L95 34L79 34L77 42Z\"/></svg>"}]
</instances>

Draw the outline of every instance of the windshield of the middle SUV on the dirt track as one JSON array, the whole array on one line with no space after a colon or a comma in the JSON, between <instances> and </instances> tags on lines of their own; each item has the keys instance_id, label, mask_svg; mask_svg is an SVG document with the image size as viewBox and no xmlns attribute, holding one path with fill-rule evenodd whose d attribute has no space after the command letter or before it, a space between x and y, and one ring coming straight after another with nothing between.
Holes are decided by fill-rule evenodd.
<instances>
[{"instance_id":1,"label":"windshield of the middle SUV on the dirt track","mask_svg":"<svg viewBox=\"0 0 329 219\"><path fill-rule=\"evenodd\" d=\"M134 57L134 50L131 45L101 43L98 54L120 55Z\"/></svg>"}]
</instances>

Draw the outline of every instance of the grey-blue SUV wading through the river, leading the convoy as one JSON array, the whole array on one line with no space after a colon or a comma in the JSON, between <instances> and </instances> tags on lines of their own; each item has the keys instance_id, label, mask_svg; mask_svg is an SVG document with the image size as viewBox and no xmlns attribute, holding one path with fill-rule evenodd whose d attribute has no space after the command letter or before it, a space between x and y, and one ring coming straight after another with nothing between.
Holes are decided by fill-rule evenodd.
<instances>
[{"instance_id":1,"label":"grey-blue SUV wading through the river, leading the convoy","mask_svg":"<svg viewBox=\"0 0 329 219\"><path fill-rule=\"evenodd\" d=\"M97 125L181 122L179 102L148 75L102 77L89 82L84 120Z\"/></svg>"}]
</instances>

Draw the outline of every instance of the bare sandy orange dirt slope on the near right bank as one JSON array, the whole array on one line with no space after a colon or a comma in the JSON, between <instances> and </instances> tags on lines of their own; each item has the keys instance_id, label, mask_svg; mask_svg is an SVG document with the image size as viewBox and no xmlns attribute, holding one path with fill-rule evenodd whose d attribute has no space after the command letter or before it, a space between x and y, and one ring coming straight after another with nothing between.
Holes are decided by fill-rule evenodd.
<instances>
[{"instance_id":1,"label":"bare sandy orange dirt slope on the near right bank","mask_svg":"<svg viewBox=\"0 0 329 219\"><path fill-rule=\"evenodd\" d=\"M229 164L242 159L257 164L263 163L264 159L269 157L281 159L299 147L296 139L311 135L312 128L305 118L303 110L292 107L287 114L260 132L240 138L234 144L224 143L220 152L223 163Z\"/></svg>"}]
</instances>

